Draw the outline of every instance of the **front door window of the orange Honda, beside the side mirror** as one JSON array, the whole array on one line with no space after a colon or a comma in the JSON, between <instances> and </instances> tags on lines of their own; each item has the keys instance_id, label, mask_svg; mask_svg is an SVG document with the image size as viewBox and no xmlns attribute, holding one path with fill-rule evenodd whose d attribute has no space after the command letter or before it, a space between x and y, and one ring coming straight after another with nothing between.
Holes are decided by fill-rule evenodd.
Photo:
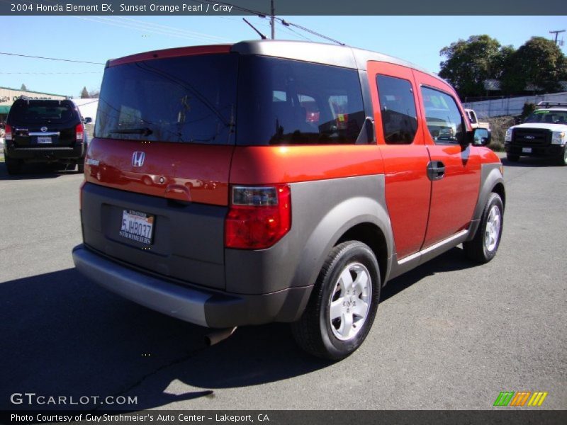
<instances>
[{"instance_id":1,"label":"front door window of the orange Honda, beside the side mirror","mask_svg":"<svg viewBox=\"0 0 567 425\"><path fill-rule=\"evenodd\" d=\"M427 129L437 145L456 144L463 137L463 117L452 96L422 87Z\"/></svg>"}]
</instances>

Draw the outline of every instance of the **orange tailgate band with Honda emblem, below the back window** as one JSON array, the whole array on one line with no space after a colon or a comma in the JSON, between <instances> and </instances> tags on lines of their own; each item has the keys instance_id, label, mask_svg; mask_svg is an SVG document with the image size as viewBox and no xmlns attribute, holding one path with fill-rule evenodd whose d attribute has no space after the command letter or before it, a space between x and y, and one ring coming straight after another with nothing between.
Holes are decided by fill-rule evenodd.
<instances>
[{"instance_id":1,"label":"orange tailgate band with Honda emblem, below the back window","mask_svg":"<svg viewBox=\"0 0 567 425\"><path fill-rule=\"evenodd\" d=\"M232 146L94 138L89 143L84 174L89 183L123 191L228 205L233 149ZM134 152L145 153L142 166L133 166Z\"/></svg>"}]
</instances>

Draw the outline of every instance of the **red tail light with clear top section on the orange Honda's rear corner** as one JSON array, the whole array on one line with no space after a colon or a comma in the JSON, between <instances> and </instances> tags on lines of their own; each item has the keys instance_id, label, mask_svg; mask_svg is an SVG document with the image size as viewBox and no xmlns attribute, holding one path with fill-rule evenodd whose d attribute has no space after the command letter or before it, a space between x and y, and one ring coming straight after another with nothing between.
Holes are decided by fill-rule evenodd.
<instances>
[{"instance_id":1,"label":"red tail light with clear top section on the orange Honda's rear corner","mask_svg":"<svg viewBox=\"0 0 567 425\"><path fill-rule=\"evenodd\" d=\"M291 228L291 191L288 185L233 186L225 220L225 246L264 249Z\"/></svg>"}]
</instances>

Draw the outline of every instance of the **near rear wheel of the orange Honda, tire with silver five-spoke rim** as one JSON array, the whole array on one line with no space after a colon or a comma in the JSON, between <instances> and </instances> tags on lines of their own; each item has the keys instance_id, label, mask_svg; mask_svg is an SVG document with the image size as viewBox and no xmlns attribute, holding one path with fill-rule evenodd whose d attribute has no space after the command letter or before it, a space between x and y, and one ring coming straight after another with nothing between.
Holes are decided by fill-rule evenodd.
<instances>
[{"instance_id":1,"label":"near rear wheel of the orange Honda, tire with silver five-spoke rim","mask_svg":"<svg viewBox=\"0 0 567 425\"><path fill-rule=\"evenodd\" d=\"M291 324L298 345L332 361L352 354L372 327L380 288L378 261L369 246L357 241L335 246L322 266L303 315Z\"/></svg>"}]
</instances>

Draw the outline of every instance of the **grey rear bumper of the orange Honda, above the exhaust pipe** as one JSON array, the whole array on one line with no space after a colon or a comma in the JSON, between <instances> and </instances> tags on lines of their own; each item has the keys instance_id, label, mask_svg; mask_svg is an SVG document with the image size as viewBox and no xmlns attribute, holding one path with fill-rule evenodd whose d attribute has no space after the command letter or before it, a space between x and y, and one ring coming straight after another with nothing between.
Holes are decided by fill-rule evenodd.
<instances>
[{"instance_id":1,"label":"grey rear bumper of the orange Honda, above the exhaust pipe","mask_svg":"<svg viewBox=\"0 0 567 425\"><path fill-rule=\"evenodd\" d=\"M181 285L107 259L83 244L73 249L79 273L128 300L204 327L224 328L297 320L312 287L240 295Z\"/></svg>"}]
</instances>

